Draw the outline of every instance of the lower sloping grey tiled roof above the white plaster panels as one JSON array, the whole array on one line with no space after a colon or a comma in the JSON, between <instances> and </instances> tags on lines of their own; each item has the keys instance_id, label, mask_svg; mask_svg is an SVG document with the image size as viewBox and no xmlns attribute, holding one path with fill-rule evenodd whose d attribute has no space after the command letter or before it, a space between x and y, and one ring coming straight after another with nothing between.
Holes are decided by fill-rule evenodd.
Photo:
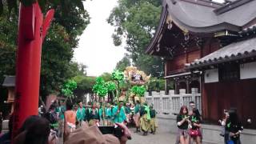
<instances>
[{"instance_id":1,"label":"lower sloping grey tiled roof above the white plaster panels","mask_svg":"<svg viewBox=\"0 0 256 144\"><path fill-rule=\"evenodd\" d=\"M256 55L256 38L250 38L241 42L234 42L222 49L208 54L201 59L191 62L189 68L206 66L220 62L237 60L240 58L250 58Z\"/></svg>"}]
</instances>

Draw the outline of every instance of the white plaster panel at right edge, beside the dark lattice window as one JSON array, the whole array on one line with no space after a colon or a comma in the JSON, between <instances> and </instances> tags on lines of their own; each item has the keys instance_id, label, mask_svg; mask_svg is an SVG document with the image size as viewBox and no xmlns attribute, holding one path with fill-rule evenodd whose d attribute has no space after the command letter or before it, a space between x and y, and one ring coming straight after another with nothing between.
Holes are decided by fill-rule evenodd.
<instances>
[{"instance_id":1,"label":"white plaster panel at right edge, beside the dark lattice window","mask_svg":"<svg viewBox=\"0 0 256 144\"><path fill-rule=\"evenodd\" d=\"M244 63L240 65L240 78L256 78L256 62Z\"/></svg>"}]
</instances>

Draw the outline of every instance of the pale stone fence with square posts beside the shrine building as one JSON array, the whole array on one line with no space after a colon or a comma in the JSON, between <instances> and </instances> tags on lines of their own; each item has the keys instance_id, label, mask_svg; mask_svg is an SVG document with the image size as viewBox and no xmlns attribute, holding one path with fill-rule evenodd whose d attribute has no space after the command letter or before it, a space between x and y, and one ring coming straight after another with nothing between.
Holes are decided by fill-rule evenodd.
<instances>
[{"instance_id":1,"label":"pale stone fence with square posts beside the shrine building","mask_svg":"<svg viewBox=\"0 0 256 144\"><path fill-rule=\"evenodd\" d=\"M193 88L191 94L186 94L185 89L180 89L179 94L174 94L174 90L169 90L169 95L165 95L164 91L152 92L152 96L145 94L146 102L154 104L154 109L158 112L158 116L174 116L178 114L181 106L189 106L190 101L194 101L196 107L201 112L201 94L198 89Z\"/></svg>"}]
</instances>

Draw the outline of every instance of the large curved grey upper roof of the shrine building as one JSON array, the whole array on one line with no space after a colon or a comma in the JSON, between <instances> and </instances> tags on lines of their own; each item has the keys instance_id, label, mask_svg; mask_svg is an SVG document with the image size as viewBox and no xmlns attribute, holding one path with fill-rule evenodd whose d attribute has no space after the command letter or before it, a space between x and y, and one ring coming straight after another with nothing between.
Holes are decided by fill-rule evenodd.
<instances>
[{"instance_id":1,"label":"large curved grey upper roof of the shrine building","mask_svg":"<svg viewBox=\"0 0 256 144\"><path fill-rule=\"evenodd\" d=\"M162 55L158 49L165 47L162 39L169 39L165 35L168 22L190 34L207 35L224 30L241 35L256 33L254 26L247 28L256 18L255 7L256 0L230 0L227 4L208 0L162 0L161 19L146 54Z\"/></svg>"}]
</instances>

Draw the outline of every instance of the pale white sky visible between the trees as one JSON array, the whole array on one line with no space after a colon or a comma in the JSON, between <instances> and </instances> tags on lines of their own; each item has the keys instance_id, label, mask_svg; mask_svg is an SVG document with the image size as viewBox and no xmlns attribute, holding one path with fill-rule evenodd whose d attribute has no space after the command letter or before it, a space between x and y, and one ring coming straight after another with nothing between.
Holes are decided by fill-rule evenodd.
<instances>
[{"instance_id":1,"label":"pale white sky visible between the trees","mask_svg":"<svg viewBox=\"0 0 256 144\"><path fill-rule=\"evenodd\" d=\"M124 46L114 46L111 35L114 26L106 19L110 11L117 6L118 0L86 0L84 6L90 14L90 24L74 50L74 60L88 66L87 75L98 76L104 72L112 72L126 50Z\"/></svg>"}]
</instances>

